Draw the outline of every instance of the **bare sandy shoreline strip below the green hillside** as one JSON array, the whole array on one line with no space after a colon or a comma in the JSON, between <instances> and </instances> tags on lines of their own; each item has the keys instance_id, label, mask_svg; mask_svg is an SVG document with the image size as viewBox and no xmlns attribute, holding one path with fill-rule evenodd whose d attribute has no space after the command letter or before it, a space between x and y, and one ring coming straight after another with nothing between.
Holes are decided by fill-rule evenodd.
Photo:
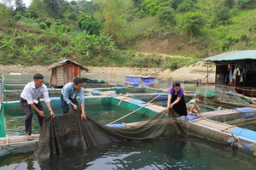
<instances>
[{"instance_id":1,"label":"bare sandy shoreline strip below the green hillside","mask_svg":"<svg viewBox=\"0 0 256 170\"><path fill-rule=\"evenodd\" d=\"M88 72L81 71L81 77L99 77L104 80L104 77L114 78L125 77L126 75L155 77L159 81L170 82L178 81L196 81L207 82L207 66L203 62L198 62L195 65L184 66L175 71L170 69L163 70L161 68L137 68L137 67L110 67L110 66L90 66L85 65ZM1 72L5 75L33 75L41 72L44 76L49 77L51 71L48 71L48 66L44 65L0 65ZM211 68L212 69L212 68ZM210 69L209 69L210 71ZM108 81L108 80L104 80ZM215 69L209 72L208 82L215 82Z\"/></svg>"}]
</instances>

